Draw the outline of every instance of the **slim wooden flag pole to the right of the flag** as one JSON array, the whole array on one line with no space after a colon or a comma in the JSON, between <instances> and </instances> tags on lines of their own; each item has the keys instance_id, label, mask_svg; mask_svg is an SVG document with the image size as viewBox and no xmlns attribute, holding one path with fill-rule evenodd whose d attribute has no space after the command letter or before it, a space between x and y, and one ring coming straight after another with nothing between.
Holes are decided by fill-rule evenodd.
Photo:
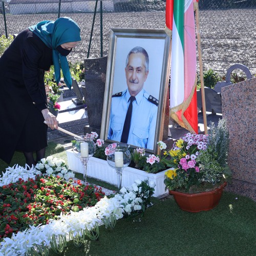
<instances>
[{"instance_id":1,"label":"slim wooden flag pole to the right of the flag","mask_svg":"<svg viewBox=\"0 0 256 256\"><path fill-rule=\"evenodd\" d=\"M204 73L203 73L203 61L201 52L201 34L199 25L199 8L198 2L194 2L194 10L197 24L197 44L198 44L198 56L199 56L199 69L201 78L201 94L202 94L202 108L203 108L203 120L204 120L204 134L207 134L207 118L206 118L206 107L205 107L205 94L204 94Z\"/></svg>"}]
</instances>

